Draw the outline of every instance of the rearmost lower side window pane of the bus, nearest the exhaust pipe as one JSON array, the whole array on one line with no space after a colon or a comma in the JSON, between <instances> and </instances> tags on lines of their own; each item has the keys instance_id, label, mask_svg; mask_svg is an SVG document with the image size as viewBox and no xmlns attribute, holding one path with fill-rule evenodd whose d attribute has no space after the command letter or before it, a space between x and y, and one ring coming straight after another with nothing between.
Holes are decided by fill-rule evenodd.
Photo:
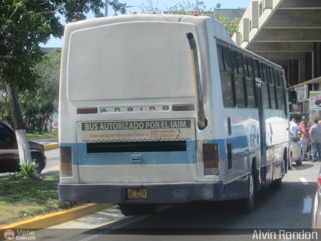
<instances>
[{"instance_id":1,"label":"rearmost lower side window pane of the bus, nearest the exhaust pipe","mask_svg":"<svg viewBox=\"0 0 321 241\"><path fill-rule=\"evenodd\" d=\"M235 107L233 74L220 71L224 107Z\"/></svg>"}]
</instances>

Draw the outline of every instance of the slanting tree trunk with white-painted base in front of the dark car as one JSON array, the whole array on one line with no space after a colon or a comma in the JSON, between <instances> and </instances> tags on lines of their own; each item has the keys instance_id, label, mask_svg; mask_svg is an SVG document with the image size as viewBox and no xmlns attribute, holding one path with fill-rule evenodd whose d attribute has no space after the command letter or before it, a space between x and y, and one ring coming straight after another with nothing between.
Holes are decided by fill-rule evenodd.
<instances>
[{"instance_id":1,"label":"slanting tree trunk with white-painted base in front of the dark car","mask_svg":"<svg viewBox=\"0 0 321 241\"><path fill-rule=\"evenodd\" d=\"M31 163L31 154L27 139L26 127L22 118L18 92L14 85L6 85L7 94L9 97L9 107L14 121L16 137L18 142L19 158L21 163Z\"/></svg>"}]
</instances>

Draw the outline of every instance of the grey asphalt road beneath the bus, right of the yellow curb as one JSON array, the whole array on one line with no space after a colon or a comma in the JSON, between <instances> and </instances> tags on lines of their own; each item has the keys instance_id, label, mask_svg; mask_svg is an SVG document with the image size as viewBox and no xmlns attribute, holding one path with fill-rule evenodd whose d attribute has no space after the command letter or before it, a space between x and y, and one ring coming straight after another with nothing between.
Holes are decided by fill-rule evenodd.
<instances>
[{"instance_id":1,"label":"grey asphalt road beneath the bus, right of the yellow curb","mask_svg":"<svg viewBox=\"0 0 321 241\"><path fill-rule=\"evenodd\" d=\"M47 155L51 152L55 155L53 151ZM279 229L310 231L320 163L303 162L293 167L283 178L280 190L267 188L256 194L255 209L247 215L239 212L236 202L162 206L153 215L132 217L124 217L114 206L38 230L37 240L283 240L284 236L278 236ZM275 229L276 239L269 238ZM270 236L263 238L260 230Z\"/></svg>"}]
</instances>

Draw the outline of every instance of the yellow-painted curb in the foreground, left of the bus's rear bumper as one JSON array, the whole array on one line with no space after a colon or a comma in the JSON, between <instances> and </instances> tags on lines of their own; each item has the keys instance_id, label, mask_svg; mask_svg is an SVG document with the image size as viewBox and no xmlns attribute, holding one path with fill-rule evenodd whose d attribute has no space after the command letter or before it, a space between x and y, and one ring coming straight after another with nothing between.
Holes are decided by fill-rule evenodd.
<instances>
[{"instance_id":1,"label":"yellow-painted curb in the foreground, left of the bus's rear bumper","mask_svg":"<svg viewBox=\"0 0 321 241\"><path fill-rule=\"evenodd\" d=\"M0 229L8 228L26 228L26 229L41 229L50 227L53 225L61 224L64 222L71 221L73 219L100 211L111 207L114 204L111 203L96 203L86 204L84 206L71 208L69 210L60 211L56 213L50 213L43 216L31 218L28 220L11 223L6 226L0 226Z\"/></svg>"}]
</instances>

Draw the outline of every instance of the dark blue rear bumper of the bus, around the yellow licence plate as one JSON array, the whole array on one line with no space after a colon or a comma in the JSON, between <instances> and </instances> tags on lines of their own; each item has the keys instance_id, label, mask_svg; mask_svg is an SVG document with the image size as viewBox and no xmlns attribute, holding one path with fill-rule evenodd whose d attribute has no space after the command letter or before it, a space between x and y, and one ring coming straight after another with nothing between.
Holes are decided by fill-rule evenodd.
<instances>
[{"instance_id":1,"label":"dark blue rear bumper of the bus, around the yellow licence plate","mask_svg":"<svg viewBox=\"0 0 321 241\"><path fill-rule=\"evenodd\" d=\"M128 188L146 188L146 199L128 199ZM85 203L171 204L192 201L221 201L222 182L148 184L58 184L60 201Z\"/></svg>"}]
</instances>

